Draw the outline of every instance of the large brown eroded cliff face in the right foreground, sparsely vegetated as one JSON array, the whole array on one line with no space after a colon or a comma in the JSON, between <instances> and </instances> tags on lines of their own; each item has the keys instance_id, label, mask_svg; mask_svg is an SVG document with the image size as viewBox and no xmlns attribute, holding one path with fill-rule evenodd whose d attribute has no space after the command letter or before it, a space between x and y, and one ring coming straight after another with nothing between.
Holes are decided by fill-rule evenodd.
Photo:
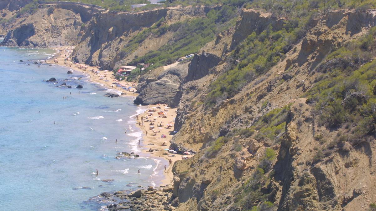
<instances>
[{"instance_id":1,"label":"large brown eroded cliff face in the right foreground, sparsely vegetated","mask_svg":"<svg viewBox=\"0 0 376 211\"><path fill-rule=\"evenodd\" d=\"M315 140L315 134L324 134L331 140L346 131L318 126L318 116L312 115L312 105L300 96L313 87L315 78L321 75L315 68L325 56L375 26L375 14L374 10L343 10L329 12L321 20L314 20L303 40L266 75L212 109L205 109L197 102L205 101L207 85L217 74L226 71L226 62L219 62L211 74L184 84L175 122L175 130L179 132L173 137L172 146L198 153L174 165L177 210L244 209L237 203L237 195L244 191L246 181L255 177L266 148L277 152L277 160L271 164L273 176L261 184L259 190L279 210L353 210L362 206L366 210L370 203L367 198L376 194L371 188L375 182L371 158L374 143L356 146L343 143L337 151L316 160L320 143ZM252 23L259 21L261 16L243 16L247 21L238 21L232 43L240 35L246 37L257 32L258 27L253 27ZM276 20L265 21L273 23ZM252 30L248 30L250 28ZM280 143L267 138L255 139L255 135L249 138L235 135L212 154L209 146L219 136L255 125L265 114L284 105L290 105L290 108L284 118L286 127L279 137ZM258 130L256 127L256 134ZM241 147L235 150L235 146Z\"/></svg>"}]
</instances>

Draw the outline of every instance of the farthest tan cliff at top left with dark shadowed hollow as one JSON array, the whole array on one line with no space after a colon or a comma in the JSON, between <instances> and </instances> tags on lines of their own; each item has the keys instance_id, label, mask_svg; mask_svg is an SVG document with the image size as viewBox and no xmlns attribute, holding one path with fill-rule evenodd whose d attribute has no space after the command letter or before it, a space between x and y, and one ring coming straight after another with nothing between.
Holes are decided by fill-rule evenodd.
<instances>
[{"instance_id":1,"label":"farthest tan cliff at top left with dark shadowed hollow","mask_svg":"<svg viewBox=\"0 0 376 211\"><path fill-rule=\"evenodd\" d=\"M5 24L8 33L2 45L30 48L76 45L85 30L85 22L97 12L97 9L79 5L38 9L32 15Z\"/></svg>"}]
</instances>

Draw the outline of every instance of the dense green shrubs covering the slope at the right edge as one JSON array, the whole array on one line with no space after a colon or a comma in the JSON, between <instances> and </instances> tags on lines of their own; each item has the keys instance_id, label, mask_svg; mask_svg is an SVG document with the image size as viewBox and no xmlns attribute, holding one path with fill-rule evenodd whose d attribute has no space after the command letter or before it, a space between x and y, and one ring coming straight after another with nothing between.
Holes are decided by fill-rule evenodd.
<instances>
[{"instance_id":1,"label":"dense green shrubs covering the slope at the right edge","mask_svg":"<svg viewBox=\"0 0 376 211\"><path fill-rule=\"evenodd\" d=\"M376 133L376 27L327 56L316 71L317 85L306 96L320 124L351 130L354 144ZM355 127L351 127L354 125Z\"/></svg>"}]
</instances>

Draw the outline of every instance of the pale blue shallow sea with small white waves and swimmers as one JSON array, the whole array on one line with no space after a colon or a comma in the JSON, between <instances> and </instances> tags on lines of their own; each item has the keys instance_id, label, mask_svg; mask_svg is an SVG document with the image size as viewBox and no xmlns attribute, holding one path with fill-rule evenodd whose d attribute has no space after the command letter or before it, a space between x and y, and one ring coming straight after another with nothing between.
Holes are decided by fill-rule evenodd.
<instances>
[{"instance_id":1,"label":"pale blue shallow sea with small white waves and swimmers","mask_svg":"<svg viewBox=\"0 0 376 211\"><path fill-rule=\"evenodd\" d=\"M53 53L0 47L0 210L97 210L103 204L86 200L104 191L159 185L165 161L115 159L139 152L141 132L130 116L144 107L131 97L104 97L109 90L67 68L32 64ZM51 77L58 81L42 81ZM73 88L56 87L64 79Z\"/></svg>"}]
</instances>

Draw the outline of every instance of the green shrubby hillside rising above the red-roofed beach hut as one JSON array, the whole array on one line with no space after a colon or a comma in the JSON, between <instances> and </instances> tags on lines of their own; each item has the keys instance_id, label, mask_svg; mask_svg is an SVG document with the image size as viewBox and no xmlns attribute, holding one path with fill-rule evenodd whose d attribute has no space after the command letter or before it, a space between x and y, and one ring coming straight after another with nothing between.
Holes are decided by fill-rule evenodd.
<instances>
[{"instance_id":1,"label":"green shrubby hillside rising above the red-roofed beach hut","mask_svg":"<svg viewBox=\"0 0 376 211\"><path fill-rule=\"evenodd\" d=\"M174 33L173 39L157 51L150 51L134 59L130 62L131 65L153 63L152 68L157 68L173 63L182 56L197 53L200 48L215 38L216 33L235 25L235 8L224 6L220 10L212 9L205 18L194 18L171 25L162 21L158 21L155 26L136 35L123 51L132 52L151 34L161 36L171 32Z\"/></svg>"}]
</instances>

